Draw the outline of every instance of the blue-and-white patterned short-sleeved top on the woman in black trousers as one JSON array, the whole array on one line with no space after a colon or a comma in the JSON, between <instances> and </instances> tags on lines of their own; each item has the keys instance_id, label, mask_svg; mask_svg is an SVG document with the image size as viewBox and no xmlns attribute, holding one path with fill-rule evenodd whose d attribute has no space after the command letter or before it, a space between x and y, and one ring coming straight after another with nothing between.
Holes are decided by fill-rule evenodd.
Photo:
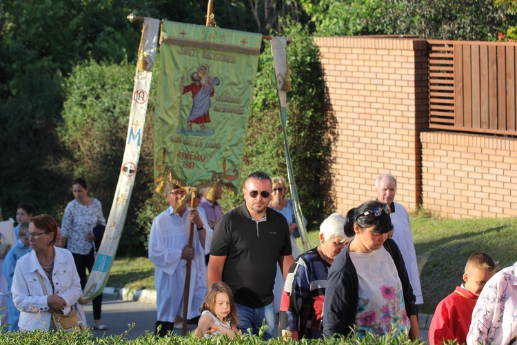
<instances>
[{"instance_id":1,"label":"blue-and-white patterned short-sleeved top on the woman in black trousers","mask_svg":"<svg viewBox=\"0 0 517 345\"><path fill-rule=\"evenodd\" d=\"M67 237L67 248L74 254L87 255L93 249L93 242L86 237L98 224L106 225L101 201L93 199L89 206L72 200L65 208L61 222L61 236Z\"/></svg>"}]
</instances>

